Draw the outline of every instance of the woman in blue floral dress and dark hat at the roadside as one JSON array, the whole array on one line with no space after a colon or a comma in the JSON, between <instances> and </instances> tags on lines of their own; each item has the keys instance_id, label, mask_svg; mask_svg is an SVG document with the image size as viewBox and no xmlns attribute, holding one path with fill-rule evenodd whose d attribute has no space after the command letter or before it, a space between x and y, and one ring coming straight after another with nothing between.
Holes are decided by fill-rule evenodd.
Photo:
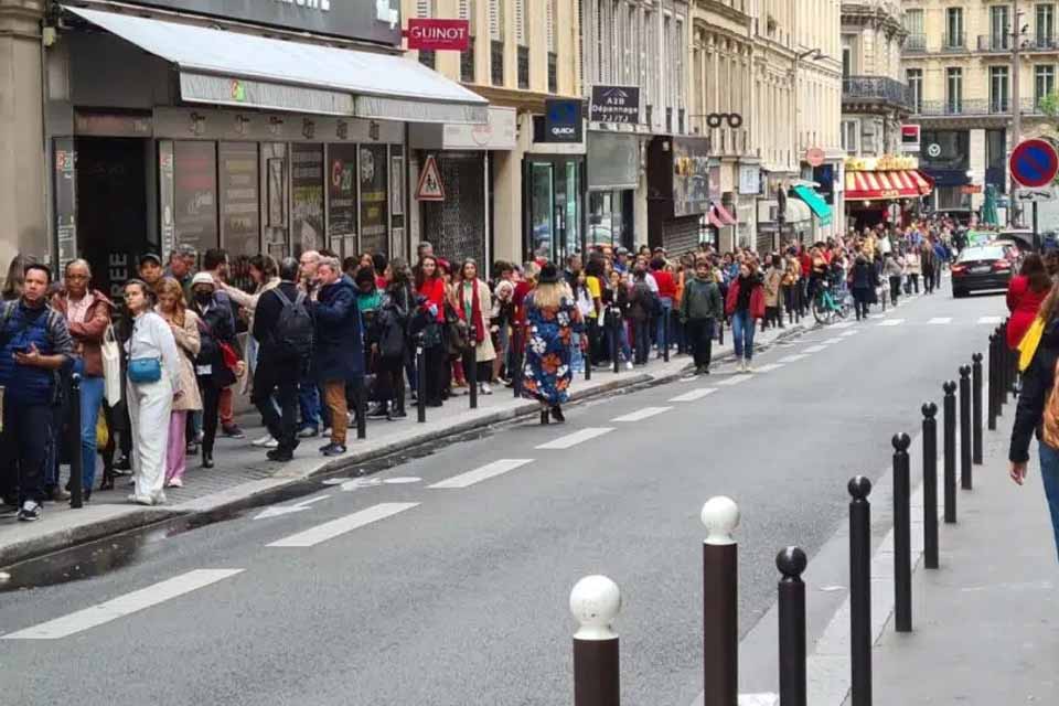
<instances>
[{"instance_id":1,"label":"woman in blue floral dress and dark hat at the roadside","mask_svg":"<svg viewBox=\"0 0 1059 706\"><path fill-rule=\"evenodd\" d=\"M523 373L523 395L541 403L542 414L550 410L552 418L565 421L563 403L569 398L570 354L575 332L585 329L574 292L559 279L553 264L541 269L537 287L526 296L526 320L530 339L526 342L526 364ZM580 336L582 349L588 339Z\"/></svg>"}]
</instances>

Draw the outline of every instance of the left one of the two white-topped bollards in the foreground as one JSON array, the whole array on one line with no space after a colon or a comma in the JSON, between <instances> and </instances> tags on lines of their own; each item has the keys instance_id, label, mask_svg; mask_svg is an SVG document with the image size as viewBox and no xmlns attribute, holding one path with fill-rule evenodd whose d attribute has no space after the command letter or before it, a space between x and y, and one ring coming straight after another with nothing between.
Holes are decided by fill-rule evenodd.
<instances>
[{"instance_id":1,"label":"left one of the two white-topped bollards in the foreground","mask_svg":"<svg viewBox=\"0 0 1059 706\"><path fill-rule=\"evenodd\" d=\"M621 610L621 591L606 576L586 576L570 591L570 612L579 628L574 634L574 706L619 706L618 634L612 629Z\"/></svg>"}]
</instances>

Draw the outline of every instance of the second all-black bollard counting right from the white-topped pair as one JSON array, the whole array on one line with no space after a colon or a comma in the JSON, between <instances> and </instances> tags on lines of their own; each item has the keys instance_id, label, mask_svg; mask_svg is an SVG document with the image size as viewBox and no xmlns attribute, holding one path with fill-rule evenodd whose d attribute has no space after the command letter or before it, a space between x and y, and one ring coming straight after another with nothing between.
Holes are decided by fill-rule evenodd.
<instances>
[{"instance_id":1,"label":"second all-black bollard counting right from the white-topped pair","mask_svg":"<svg viewBox=\"0 0 1059 706\"><path fill-rule=\"evenodd\" d=\"M851 706L871 706L871 481L849 480Z\"/></svg>"}]
</instances>

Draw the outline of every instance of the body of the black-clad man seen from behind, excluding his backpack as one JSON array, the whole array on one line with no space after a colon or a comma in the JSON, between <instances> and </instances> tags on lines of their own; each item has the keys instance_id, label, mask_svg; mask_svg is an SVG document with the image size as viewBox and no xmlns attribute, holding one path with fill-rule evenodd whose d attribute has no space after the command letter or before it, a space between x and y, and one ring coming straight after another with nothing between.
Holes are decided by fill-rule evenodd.
<instances>
[{"instance_id":1,"label":"body of the black-clad man seen from behind, excluding his backpack","mask_svg":"<svg viewBox=\"0 0 1059 706\"><path fill-rule=\"evenodd\" d=\"M295 306L301 293L296 284L298 260L292 257L285 258L279 266L279 285L264 292L254 310L253 335L259 346L253 402L261 413L261 420L268 432L279 442L278 447L268 452L268 458L272 461L289 461L298 446L295 436L298 421L298 379L307 361L301 360L278 340L277 330L284 309ZM274 396L279 405L278 413L272 403Z\"/></svg>"}]
</instances>

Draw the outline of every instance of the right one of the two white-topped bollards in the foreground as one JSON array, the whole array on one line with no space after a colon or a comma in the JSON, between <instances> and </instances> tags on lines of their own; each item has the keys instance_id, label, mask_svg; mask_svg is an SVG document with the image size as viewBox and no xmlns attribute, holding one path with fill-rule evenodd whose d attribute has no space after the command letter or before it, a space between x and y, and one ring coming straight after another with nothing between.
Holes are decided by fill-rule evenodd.
<instances>
[{"instance_id":1,"label":"right one of the two white-topped bollards in the foreground","mask_svg":"<svg viewBox=\"0 0 1059 706\"><path fill-rule=\"evenodd\" d=\"M730 498L710 498L702 520L709 531L703 545L703 706L737 706L739 552L731 533L739 524L739 506Z\"/></svg>"}]
</instances>

